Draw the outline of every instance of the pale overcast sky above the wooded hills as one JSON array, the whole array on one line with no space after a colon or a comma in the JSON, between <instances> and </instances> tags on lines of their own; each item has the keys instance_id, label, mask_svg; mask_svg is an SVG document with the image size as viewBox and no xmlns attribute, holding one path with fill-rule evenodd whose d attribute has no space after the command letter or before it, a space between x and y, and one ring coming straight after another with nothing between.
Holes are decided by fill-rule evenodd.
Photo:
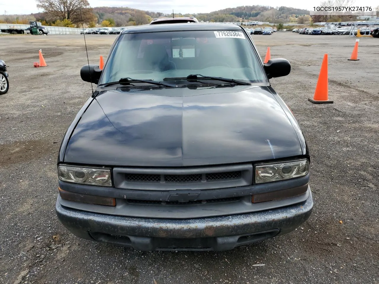
<instances>
[{"instance_id":1,"label":"pale overcast sky above the wooded hills","mask_svg":"<svg viewBox=\"0 0 379 284\"><path fill-rule=\"evenodd\" d=\"M178 13L208 13L225 8L233 8L237 6L246 5L268 5L268 6L288 6L300 9L311 9L310 6L316 6L321 1L315 2L299 1L299 0L258 0L251 3L246 0L218 0L218 1L205 1L205 0L88 0L91 7L97 6L122 6L145 11L171 13L172 9ZM356 4L359 1L356 0ZM365 6L377 6L378 0L365 0ZM361 3L363 5L363 3ZM0 14L30 14L42 12L37 9L34 0L0 0Z\"/></svg>"}]
</instances>

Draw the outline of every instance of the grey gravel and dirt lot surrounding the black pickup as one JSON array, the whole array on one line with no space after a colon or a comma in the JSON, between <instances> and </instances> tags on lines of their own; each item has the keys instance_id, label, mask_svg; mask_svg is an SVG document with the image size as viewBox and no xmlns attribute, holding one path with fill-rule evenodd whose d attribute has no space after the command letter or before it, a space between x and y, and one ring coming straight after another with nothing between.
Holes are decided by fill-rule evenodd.
<instances>
[{"instance_id":1,"label":"grey gravel and dirt lot surrounding the black pickup","mask_svg":"<svg viewBox=\"0 0 379 284\"><path fill-rule=\"evenodd\" d=\"M114 36L87 36L89 61ZM222 253L139 252L78 239L58 222L56 157L90 95L83 36L1 36L10 90L0 96L1 283L378 283L379 39L277 32L254 36L262 55L292 64L272 79L312 154L315 208L293 233ZM38 49L49 66L33 68ZM329 98L313 105L329 54ZM252 266L265 264L264 266Z\"/></svg>"}]
</instances>

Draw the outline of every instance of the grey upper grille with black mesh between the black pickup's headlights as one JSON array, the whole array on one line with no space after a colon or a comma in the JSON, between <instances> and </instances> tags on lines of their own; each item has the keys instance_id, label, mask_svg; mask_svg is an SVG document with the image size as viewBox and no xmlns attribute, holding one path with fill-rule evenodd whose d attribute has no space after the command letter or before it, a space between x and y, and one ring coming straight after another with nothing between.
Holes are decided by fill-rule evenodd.
<instances>
[{"instance_id":1,"label":"grey upper grille with black mesh between the black pickup's headlights","mask_svg":"<svg viewBox=\"0 0 379 284\"><path fill-rule=\"evenodd\" d=\"M115 167L114 186L119 189L177 190L220 189L252 184L250 163L198 167Z\"/></svg>"}]
</instances>

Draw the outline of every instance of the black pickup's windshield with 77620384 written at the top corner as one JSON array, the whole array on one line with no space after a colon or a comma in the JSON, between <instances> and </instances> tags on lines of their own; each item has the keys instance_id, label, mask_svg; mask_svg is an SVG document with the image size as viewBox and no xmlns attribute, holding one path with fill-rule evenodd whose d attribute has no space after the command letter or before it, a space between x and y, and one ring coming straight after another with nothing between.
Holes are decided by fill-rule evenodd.
<instances>
[{"instance_id":1,"label":"black pickup's windshield with 77620384 written at the top corner","mask_svg":"<svg viewBox=\"0 0 379 284\"><path fill-rule=\"evenodd\" d=\"M267 82L242 31L169 31L121 34L99 84L121 78L162 81L191 74Z\"/></svg>"}]
</instances>

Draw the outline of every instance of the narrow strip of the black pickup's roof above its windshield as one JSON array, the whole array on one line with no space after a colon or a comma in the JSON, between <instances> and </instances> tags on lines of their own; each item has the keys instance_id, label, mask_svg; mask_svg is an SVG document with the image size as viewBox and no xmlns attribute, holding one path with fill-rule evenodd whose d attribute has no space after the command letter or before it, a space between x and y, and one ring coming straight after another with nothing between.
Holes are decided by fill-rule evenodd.
<instances>
[{"instance_id":1,"label":"narrow strip of the black pickup's roof above its windshield","mask_svg":"<svg viewBox=\"0 0 379 284\"><path fill-rule=\"evenodd\" d=\"M235 24L211 23L163 23L159 25L140 25L122 31L122 34L151 33L160 31L217 31L217 30L243 30Z\"/></svg>"}]
</instances>

